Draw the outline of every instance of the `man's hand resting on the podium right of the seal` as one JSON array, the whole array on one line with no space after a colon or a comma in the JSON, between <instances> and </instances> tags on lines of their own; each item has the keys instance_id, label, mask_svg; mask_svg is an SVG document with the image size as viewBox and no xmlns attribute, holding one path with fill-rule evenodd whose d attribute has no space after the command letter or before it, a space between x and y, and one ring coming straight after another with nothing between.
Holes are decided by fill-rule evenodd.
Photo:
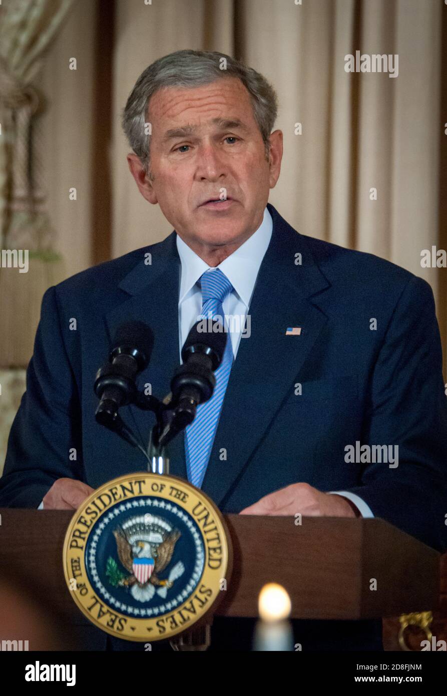
<instances>
[{"instance_id":1,"label":"man's hand resting on the podium right of the seal","mask_svg":"<svg viewBox=\"0 0 447 696\"><path fill-rule=\"evenodd\" d=\"M293 483L269 493L258 503L244 507L241 515L295 515L309 517L356 517L350 503L334 493L322 493L308 483Z\"/></svg>"}]
</instances>

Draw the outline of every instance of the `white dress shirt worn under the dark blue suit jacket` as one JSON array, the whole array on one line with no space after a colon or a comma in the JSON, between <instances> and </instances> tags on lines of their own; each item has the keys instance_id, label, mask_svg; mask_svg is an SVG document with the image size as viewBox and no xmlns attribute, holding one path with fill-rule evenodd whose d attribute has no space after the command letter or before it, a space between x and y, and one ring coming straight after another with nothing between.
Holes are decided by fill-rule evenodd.
<instances>
[{"instance_id":1,"label":"white dress shirt worn under the dark blue suit jacket","mask_svg":"<svg viewBox=\"0 0 447 696\"><path fill-rule=\"evenodd\" d=\"M260 223L256 232L217 267L221 269L222 273L226 275L231 285L233 285L232 292L224 299L224 314L240 317L241 319L240 322L232 322L231 324L234 330L230 332L230 338L235 358L260 264L272 238L272 230L272 216L266 207L262 223ZM202 310L202 292L197 281L205 271L212 267L200 258L195 251L192 251L178 235L177 249L182 263L178 301L179 357L181 362L182 347L187 340L191 327L196 323L197 317ZM287 435L285 434L285 436ZM370 507L355 493L350 493L349 491L330 491L330 493L338 494L351 500L358 507L363 517L374 517ZM43 504L40 503L38 509L42 509L42 507Z\"/></svg>"}]
</instances>

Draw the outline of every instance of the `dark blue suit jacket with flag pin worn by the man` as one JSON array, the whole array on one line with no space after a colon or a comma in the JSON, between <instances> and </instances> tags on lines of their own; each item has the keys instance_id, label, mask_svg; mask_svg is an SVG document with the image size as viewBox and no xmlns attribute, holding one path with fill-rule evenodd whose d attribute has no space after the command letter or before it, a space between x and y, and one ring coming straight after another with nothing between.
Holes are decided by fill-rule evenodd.
<instances>
[{"instance_id":1,"label":"dark blue suit jacket with flag pin worn by the man","mask_svg":"<svg viewBox=\"0 0 447 696\"><path fill-rule=\"evenodd\" d=\"M353 491L375 516L444 551L447 402L430 286L376 256L300 235L268 208L273 233L249 309L251 338L230 373L203 490L223 512L294 482ZM168 393L179 363L179 281L172 232L45 292L0 507L38 507L60 477L95 488L146 469L139 450L95 422L93 382L116 328L139 319L155 335L139 385ZM301 335L286 336L289 326ZM146 445L152 414L126 406L122 415ZM398 467L347 464L345 446L356 441L398 445ZM183 438L172 444L171 473L186 478Z\"/></svg>"}]
</instances>

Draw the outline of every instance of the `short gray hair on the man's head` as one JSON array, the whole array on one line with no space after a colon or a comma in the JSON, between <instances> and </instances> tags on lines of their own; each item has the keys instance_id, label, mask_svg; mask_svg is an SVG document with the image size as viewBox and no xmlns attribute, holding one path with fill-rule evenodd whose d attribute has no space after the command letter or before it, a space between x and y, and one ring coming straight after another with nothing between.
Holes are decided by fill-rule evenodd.
<instances>
[{"instance_id":1,"label":"short gray hair on the man's head","mask_svg":"<svg viewBox=\"0 0 447 696\"><path fill-rule=\"evenodd\" d=\"M185 49L163 56L143 70L123 109L123 130L146 173L150 166L150 134L145 133L150 97L163 87L192 88L225 77L237 77L248 90L268 158L269 135L278 113L274 88L259 72L224 53Z\"/></svg>"}]
</instances>

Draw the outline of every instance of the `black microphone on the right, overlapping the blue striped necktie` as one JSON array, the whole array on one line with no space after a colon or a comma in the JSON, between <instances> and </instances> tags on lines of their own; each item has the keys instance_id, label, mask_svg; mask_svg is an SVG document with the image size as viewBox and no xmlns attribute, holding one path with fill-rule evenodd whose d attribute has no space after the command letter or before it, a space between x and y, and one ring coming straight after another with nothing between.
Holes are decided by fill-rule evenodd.
<instances>
[{"instance_id":1,"label":"black microphone on the right, overlapping the blue striped necktie","mask_svg":"<svg viewBox=\"0 0 447 696\"><path fill-rule=\"evenodd\" d=\"M183 364L175 370L171 381L170 409L173 409L157 444L162 447L193 422L199 404L212 397L216 378L214 372L224 358L227 334L219 322L210 322L211 331L203 331L203 319L194 324L182 347ZM214 329L214 330L213 330Z\"/></svg>"}]
</instances>

